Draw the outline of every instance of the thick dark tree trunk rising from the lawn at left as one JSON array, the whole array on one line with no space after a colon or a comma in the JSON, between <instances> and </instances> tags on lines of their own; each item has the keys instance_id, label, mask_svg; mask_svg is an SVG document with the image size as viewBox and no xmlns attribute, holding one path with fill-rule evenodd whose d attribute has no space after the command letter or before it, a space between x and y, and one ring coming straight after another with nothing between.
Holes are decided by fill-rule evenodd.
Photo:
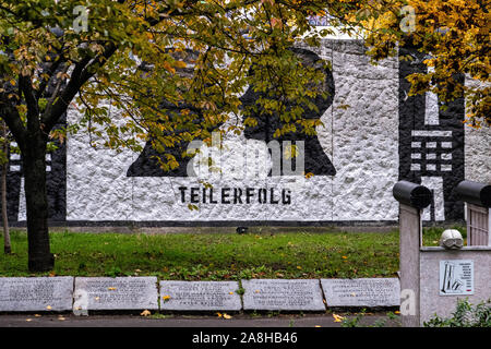
<instances>
[{"instance_id":1,"label":"thick dark tree trunk rising from the lawn at left","mask_svg":"<svg viewBox=\"0 0 491 349\"><path fill-rule=\"evenodd\" d=\"M47 272L55 266L49 250L48 196L46 191L47 135L40 130L27 132L26 146L22 152L27 209L28 268Z\"/></svg>"}]
</instances>

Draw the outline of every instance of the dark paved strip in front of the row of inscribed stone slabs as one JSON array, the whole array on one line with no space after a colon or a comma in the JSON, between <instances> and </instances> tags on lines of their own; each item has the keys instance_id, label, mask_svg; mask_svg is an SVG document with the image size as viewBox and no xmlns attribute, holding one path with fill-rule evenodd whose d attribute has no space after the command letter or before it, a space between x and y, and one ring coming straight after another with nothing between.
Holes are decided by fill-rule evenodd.
<instances>
[{"instance_id":1,"label":"dark paved strip in front of the row of inscribed stone slabs","mask_svg":"<svg viewBox=\"0 0 491 349\"><path fill-rule=\"evenodd\" d=\"M218 315L91 315L73 314L8 314L0 315L0 327L342 327L333 314L231 314L231 318ZM355 316L346 316L354 318ZM385 313L362 316L360 326L398 327L398 318L391 320Z\"/></svg>"}]
</instances>

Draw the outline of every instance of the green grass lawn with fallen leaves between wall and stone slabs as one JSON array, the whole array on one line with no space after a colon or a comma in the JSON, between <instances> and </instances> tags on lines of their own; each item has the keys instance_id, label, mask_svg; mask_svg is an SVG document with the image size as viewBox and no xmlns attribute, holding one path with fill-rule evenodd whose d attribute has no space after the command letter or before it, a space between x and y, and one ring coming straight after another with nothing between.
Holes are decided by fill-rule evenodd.
<instances>
[{"instance_id":1,"label":"green grass lawn with fallen leaves between wall and stone slabs","mask_svg":"<svg viewBox=\"0 0 491 349\"><path fill-rule=\"evenodd\" d=\"M443 229L426 229L426 245ZM460 229L462 231L462 229ZM394 277L398 232L332 233L75 233L52 232L55 275L144 276L175 280L241 278ZM12 231L11 255L0 253L0 276L32 276L27 236ZM3 250L3 246L0 245ZM37 274L37 275L48 275Z\"/></svg>"}]
</instances>

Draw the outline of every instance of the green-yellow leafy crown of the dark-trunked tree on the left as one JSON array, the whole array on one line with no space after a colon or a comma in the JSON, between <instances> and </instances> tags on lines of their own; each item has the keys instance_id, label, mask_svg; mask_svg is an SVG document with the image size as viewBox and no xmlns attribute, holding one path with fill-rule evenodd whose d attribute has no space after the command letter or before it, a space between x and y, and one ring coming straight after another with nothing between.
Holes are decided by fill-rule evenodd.
<instances>
[{"instance_id":1,"label":"green-yellow leafy crown of the dark-trunked tree on the left","mask_svg":"<svg viewBox=\"0 0 491 349\"><path fill-rule=\"evenodd\" d=\"M284 119L284 132L299 123L312 130L319 121L301 120L301 112L287 110L284 101L303 100L314 108L307 94L321 92L307 86L322 76L301 67L287 48L301 37L319 43L321 34L309 32L308 17L326 4L1 1L1 93L3 108L10 108L2 113L14 134L22 133L29 112L36 116L33 122L51 131L73 100L84 113L76 127L86 127L94 140L104 136L104 145L139 151L139 139L152 136L156 149L164 151L181 141L209 140L209 130L239 112L240 94L254 83L264 91L277 87L260 104ZM73 14L80 5L88 9L86 31L81 32ZM333 1L335 11L343 7ZM258 69L251 75L252 64ZM122 110L122 121L108 115L110 105ZM163 167L177 166L170 154L166 159Z\"/></svg>"}]
</instances>

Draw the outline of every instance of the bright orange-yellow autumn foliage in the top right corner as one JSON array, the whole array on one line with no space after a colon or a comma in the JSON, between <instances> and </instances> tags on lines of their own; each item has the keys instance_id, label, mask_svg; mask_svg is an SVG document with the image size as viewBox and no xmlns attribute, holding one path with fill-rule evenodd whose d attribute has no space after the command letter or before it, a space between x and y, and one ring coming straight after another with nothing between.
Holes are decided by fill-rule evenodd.
<instances>
[{"instance_id":1,"label":"bright orange-yellow autumn foliage in the top right corner","mask_svg":"<svg viewBox=\"0 0 491 349\"><path fill-rule=\"evenodd\" d=\"M442 101L465 96L466 122L491 125L490 10L482 0L367 0L346 14L380 60L395 55L400 46L416 47L427 55L427 73L408 79L410 94L431 91ZM354 1L355 3L355 1ZM411 59L406 57L405 59ZM458 74L476 83L462 83Z\"/></svg>"}]
</instances>

